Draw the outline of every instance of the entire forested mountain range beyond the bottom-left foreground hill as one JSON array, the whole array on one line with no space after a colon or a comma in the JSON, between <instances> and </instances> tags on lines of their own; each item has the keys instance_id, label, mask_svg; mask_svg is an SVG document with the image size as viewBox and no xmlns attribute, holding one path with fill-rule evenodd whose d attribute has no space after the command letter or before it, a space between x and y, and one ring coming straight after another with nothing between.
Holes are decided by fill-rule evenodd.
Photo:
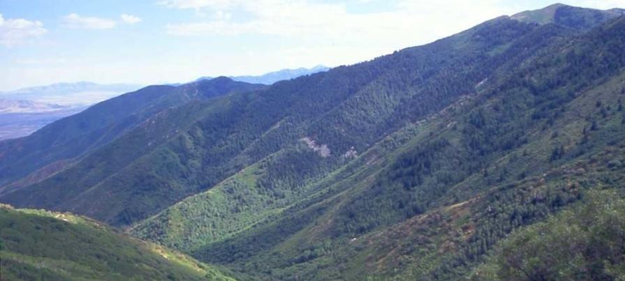
<instances>
[{"instance_id":1,"label":"entire forested mountain range beyond the bottom-left foreground hill","mask_svg":"<svg viewBox=\"0 0 625 281\"><path fill-rule=\"evenodd\" d=\"M557 4L269 85L148 86L0 142L0 202L240 280L618 280L623 15Z\"/></svg>"}]
</instances>

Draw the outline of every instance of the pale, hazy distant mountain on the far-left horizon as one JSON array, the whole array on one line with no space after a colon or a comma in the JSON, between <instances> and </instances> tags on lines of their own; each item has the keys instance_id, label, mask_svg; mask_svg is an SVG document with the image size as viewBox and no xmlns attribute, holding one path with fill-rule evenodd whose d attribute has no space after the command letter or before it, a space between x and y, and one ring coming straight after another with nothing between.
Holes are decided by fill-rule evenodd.
<instances>
[{"instance_id":1,"label":"pale, hazy distant mountain on the far-left horizon","mask_svg":"<svg viewBox=\"0 0 625 281\"><path fill-rule=\"evenodd\" d=\"M30 100L33 102L84 107L139 88L139 85L134 84L58 83L0 92L0 99Z\"/></svg>"}]
</instances>

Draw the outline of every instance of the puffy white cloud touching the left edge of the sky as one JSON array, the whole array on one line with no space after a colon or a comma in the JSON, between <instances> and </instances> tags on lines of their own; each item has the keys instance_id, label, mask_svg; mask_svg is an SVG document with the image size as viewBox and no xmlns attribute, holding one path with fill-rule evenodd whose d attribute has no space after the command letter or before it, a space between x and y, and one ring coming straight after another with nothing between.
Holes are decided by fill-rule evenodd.
<instances>
[{"instance_id":1,"label":"puffy white cloud touching the left edge of the sky","mask_svg":"<svg viewBox=\"0 0 625 281\"><path fill-rule=\"evenodd\" d=\"M39 21L4 19L0 14L0 45L11 47L43 35L46 30Z\"/></svg>"}]
</instances>

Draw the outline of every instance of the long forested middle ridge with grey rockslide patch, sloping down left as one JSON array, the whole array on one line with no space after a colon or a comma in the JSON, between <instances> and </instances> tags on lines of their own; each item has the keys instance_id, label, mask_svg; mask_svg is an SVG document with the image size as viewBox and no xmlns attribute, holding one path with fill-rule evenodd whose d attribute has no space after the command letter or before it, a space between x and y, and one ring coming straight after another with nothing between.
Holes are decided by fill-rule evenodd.
<instances>
[{"instance_id":1,"label":"long forested middle ridge with grey rockslide patch, sloping down left","mask_svg":"<svg viewBox=\"0 0 625 281\"><path fill-rule=\"evenodd\" d=\"M509 26L512 32L499 26ZM474 91L508 58L508 53L489 56L476 50L494 51L533 27L513 20L490 22L433 45L278 82L259 92L224 96L212 103L214 107L194 103L172 109L91 151L70 169L3 192L7 194L0 199L127 226L214 187L244 167L262 165L265 158L270 169L263 176L263 189L295 188L352 159L343 155L366 151L406 123ZM492 38L477 36L486 32L494 33ZM483 61L488 61L487 67ZM450 72L457 77L453 82L448 81ZM332 157L318 157L309 148L312 144L329 147ZM20 171L15 161L7 162L7 169ZM295 167L302 165L307 168L297 172ZM257 210L250 222L305 196L295 190L272 195L297 197L270 199L275 202Z\"/></svg>"}]
</instances>

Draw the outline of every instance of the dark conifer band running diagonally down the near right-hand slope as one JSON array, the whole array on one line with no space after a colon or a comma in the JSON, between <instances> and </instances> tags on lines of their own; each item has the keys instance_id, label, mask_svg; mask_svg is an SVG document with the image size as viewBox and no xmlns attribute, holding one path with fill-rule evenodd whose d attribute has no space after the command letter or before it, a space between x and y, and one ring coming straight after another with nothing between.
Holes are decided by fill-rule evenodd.
<instances>
[{"instance_id":1,"label":"dark conifer band running diagonally down the near right-hand slope","mask_svg":"<svg viewBox=\"0 0 625 281\"><path fill-rule=\"evenodd\" d=\"M625 38L622 30L610 29L584 36L587 36L587 40L583 40L582 44L575 46L557 44L541 50L536 61L515 70L514 76L504 78L492 93L503 91L505 95L487 94L479 98L476 104L490 102L491 105L476 107L468 112L465 115L466 119L455 123L457 131L436 132L418 148L402 155L376 179L372 188L362 192L344 208L339 217L337 232L359 235L371 231L378 225L391 225L422 213L428 204L436 204L436 199L446 194L447 188L474 174L481 174L487 179L485 183L488 186L506 180L522 179L528 176L528 173L538 173L540 170L534 167L533 170L515 172L512 175L511 171L506 169L501 169L498 174L492 174L487 163L527 144L529 142L527 132L536 130L537 123L541 124L539 130L548 130L550 127L556 134L558 131L553 129L554 122L566 114L568 103L575 98L574 93L605 81L594 77L591 73L601 73L601 77L612 77L623 69L625 64L618 61L625 56L625 52L622 48L613 47L625 45L625 42L620 41ZM557 52L555 50L561 48L564 48L564 54L554 56L553 54ZM606 67L604 63L597 63L596 61L602 61L596 57L598 55L601 58L609 57L610 61L617 61L618 64L612 63ZM558 56L573 59L563 61ZM586 63L576 64L575 61ZM612 93L610 98L615 94L617 93ZM589 116L589 119L593 120L605 120L608 114L613 114L616 110L615 108L608 110L601 105L596 109L591 107L590 109L601 114ZM597 122L594 121L595 124ZM587 153L592 147L601 147L600 143L605 142L605 138L618 141L622 137L622 128L616 126L614 129L616 130L612 132L614 135L594 138L591 144L578 146L571 144L571 140L556 142L552 144L553 149L547 160L555 161L557 165L559 163L557 160L575 158ZM452 142L455 145L451 145ZM394 211L367 212L370 209Z\"/></svg>"}]
</instances>

